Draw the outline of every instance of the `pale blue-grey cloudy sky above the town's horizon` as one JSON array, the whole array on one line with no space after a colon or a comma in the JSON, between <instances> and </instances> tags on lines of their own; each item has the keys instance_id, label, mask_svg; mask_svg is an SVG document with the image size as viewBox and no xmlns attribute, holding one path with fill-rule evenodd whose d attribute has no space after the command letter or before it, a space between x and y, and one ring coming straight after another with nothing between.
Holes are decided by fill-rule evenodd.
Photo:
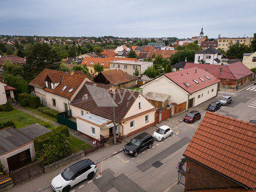
<instances>
[{"instance_id":1,"label":"pale blue-grey cloudy sky above the town's horizon","mask_svg":"<svg viewBox=\"0 0 256 192\"><path fill-rule=\"evenodd\" d=\"M1 0L0 35L253 37L255 0Z\"/></svg>"}]
</instances>

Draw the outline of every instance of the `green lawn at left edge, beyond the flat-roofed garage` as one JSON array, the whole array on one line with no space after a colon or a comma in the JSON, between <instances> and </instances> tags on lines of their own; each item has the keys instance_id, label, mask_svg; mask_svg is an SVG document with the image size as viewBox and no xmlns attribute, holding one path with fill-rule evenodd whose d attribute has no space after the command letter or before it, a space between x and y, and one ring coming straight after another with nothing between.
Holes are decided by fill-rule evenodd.
<instances>
[{"instance_id":1,"label":"green lawn at left edge, beyond the flat-roofed garage","mask_svg":"<svg viewBox=\"0 0 256 192\"><path fill-rule=\"evenodd\" d=\"M7 122L12 120L16 129L23 128L23 126L33 125L35 123L42 123L43 121L33 117L27 113L14 109L13 111L0 112L0 122Z\"/></svg>"}]
</instances>

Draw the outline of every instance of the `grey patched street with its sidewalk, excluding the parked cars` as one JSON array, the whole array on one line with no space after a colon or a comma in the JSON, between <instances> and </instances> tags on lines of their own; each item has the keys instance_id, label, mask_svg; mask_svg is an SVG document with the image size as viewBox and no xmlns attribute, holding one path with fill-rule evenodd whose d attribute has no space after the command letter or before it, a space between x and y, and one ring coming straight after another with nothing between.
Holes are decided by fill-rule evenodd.
<instances>
[{"instance_id":1,"label":"grey patched street with its sidewalk, excluding the parked cars","mask_svg":"<svg viewBox=\"0 0 256 192\"><path fill-rule=\"evenodd\" d=\"M189 111L200 111L202 120L207 112L205 109L210 102L218 101L221 96L229 95L233 97L234 101L227 106L222 106L216 113L245 122L255 119L256 85L252 85L251 82L251 84L244 85L239 89L237 91L227 90L226 92L222 90L219 92L218 98L210 99ZM201 122L198 120L192 124L185 123L182 121L185 114L182 113L159 123L157 126L169 125L173 130L173 136L167 137L164 141L154 141L151 149L144 150L136 158L126 155L122 151L122 147L135 135L126 138L121 144L105 147L84 156L83 159L90 158L95 161L98 172L93 180L85 180L71 188L70 191L183 191L184 188L178 190L177 185L175 185L178 179L176 167L180 159L183 158L183 153ZM149 134L153 134L154 131L155 126L146 129ZM105 156L110 156L110 158L104 158ZM71 164L73 163L75 162ZM9 191L52 191L50 188L51 179L71 164L16 185Z\"/></svg>"}]
</instances>

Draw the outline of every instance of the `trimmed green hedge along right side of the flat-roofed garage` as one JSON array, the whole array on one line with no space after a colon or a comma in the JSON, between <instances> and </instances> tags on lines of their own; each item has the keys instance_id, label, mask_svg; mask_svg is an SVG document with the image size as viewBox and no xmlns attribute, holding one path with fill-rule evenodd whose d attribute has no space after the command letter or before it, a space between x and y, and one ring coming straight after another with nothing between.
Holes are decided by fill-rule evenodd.
<instances>
[{"instance_id":1,"label":"trimmed green hedge along right side of the flat-roofed garage","mask_svg":"<svg viewBox=\"0 0 256 192\"><path fill-rule=\"evenodd\" d=\"M54 131L47 132L46 134L40 135L39 137L36 137L34 139L34 147L37 152L43 149L43 144L48 144L49 139L57 134L58 132L61 132L66 137L69 137L69 129L66 125L60 125Z\"/></svg>"}]
</instances>

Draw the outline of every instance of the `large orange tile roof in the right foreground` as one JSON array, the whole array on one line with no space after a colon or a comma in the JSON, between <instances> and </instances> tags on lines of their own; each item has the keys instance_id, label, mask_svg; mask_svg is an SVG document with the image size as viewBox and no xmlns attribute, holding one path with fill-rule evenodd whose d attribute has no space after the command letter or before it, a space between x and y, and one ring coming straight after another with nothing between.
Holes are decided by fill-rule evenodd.
<instances>
[{"instance_id":1,"label":"large orange tile roof in the right foreground","mask_svg":"<svg viewBox=\"0 0 256 192\"><path fill-rule=\"evenodd\" d=\"M252 123L207 111L184 155L256 188L256 125Z\"/></svg>"}]
</instances>

